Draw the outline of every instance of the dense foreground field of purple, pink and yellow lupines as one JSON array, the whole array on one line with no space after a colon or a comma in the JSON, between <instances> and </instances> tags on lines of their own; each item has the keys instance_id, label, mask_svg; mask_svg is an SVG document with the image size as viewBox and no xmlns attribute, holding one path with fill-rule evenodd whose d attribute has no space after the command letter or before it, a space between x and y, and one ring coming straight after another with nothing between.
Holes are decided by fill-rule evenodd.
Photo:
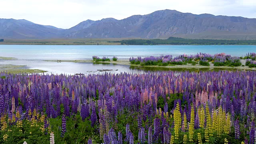
<instances>
[{"instance_id":1,"label":"dense foreground field of purple, pink and yellow lupines","mask_svg":"<svg viewBox=\"0 0 256 144\"><path fill-rule=\"evenodd\" d=\"M1 144L255 144L256 72L0 73Z\"/></svg>"}]
</instances>

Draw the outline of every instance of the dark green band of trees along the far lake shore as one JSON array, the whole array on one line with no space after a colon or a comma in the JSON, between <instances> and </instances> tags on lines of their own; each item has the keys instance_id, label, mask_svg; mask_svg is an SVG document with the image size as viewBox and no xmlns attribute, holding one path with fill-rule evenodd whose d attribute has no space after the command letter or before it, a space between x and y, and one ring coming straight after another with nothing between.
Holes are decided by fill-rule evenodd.
<instances>
[{"instance_id":1,"label":"dark green band of trees along the far lake shore","mask_svg":"<svg viewBox=\"0 0 256 144\"><path fill-rule=\"evenodd\" d=\"M168 39L131 39L109 42L119 42L121 45L256 45L256 40L185 39L175 37Z\"/></svg>"}]
</instances>

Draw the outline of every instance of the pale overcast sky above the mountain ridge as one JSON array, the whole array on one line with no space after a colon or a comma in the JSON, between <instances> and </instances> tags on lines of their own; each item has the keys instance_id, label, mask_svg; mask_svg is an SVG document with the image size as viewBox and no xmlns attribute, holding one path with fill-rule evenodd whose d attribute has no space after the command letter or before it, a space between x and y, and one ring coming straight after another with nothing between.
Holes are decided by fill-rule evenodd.
<instances>
[{"instance_id":1,"label":"pale overcast sky above the mountain ridge","mask_svg":"<svg viewBox=\"0 0 256 144\"><path fill-rule=\"evenodd\" d=\"M256 0L0 0L0 18L58 28L70 28L87 19L120 20L164 9L256 18Z\"/></svg>"}]
</instances>

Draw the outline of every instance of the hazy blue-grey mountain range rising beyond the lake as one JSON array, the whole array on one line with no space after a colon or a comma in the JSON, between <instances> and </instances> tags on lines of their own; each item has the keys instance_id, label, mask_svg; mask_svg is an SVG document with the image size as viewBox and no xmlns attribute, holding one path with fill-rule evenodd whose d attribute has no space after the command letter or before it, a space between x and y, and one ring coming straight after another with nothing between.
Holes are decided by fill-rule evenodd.
<instances>
[{"instance_id":1,"label":"hazy blue-grey mountain range rising beyond the lake","mask_svg":"<svg viewBox=\"0 0 256 144\"><path fill-rule=\"evenodd\" d=\"M0 38L204 38L256 39L256 18L214 16L159 10L122 20L86 20L69 29L35 24L28 20L0 19Z\"/></svg>"}]
</instances>

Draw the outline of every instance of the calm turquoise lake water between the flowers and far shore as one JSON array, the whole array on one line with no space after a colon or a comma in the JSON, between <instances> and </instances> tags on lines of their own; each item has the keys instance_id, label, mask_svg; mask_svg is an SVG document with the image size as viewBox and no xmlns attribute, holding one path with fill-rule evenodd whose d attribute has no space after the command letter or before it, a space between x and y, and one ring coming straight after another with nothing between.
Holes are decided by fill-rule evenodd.
<instances>
[{"instance_id":1,"label":"calm turquoise lake water between the flowers and far shore","mask_svg":"<svg viewBox=\"0 0 256 144\"><path fill-rule=\"evenodd\" d=\"M130 66L114 64L92 64L71 62L44 62L42 60L91 60L92 56L108 56L118 59L128 59L131 56L159 56L160 54L196 54L204 52L216 54L224 52L232 56L244 56L248 52L256 52L252 45L227 46L190 46L190 45L163 45L163 46L102 46L102 45L0 45L0 56L14 57L18 60L2 60L0 64L26 65L32 69L47 70L49 73L93 73L97 69L112 69L111 73L143 72ZM99 73L99 72L98 72Z\"/></svg>"}]
</instances>

